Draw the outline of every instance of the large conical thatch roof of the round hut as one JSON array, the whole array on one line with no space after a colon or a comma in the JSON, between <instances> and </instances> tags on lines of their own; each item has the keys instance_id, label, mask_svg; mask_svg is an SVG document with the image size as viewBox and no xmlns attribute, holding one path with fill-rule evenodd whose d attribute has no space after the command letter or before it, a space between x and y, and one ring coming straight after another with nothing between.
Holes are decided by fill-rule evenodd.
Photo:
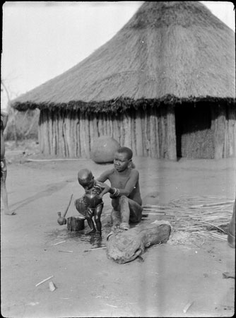
<instances>
[{"instance_id":1,"label":"large conical thatch roof of the round hut","mask_svg":"<svg viewBox=\"0 0 236 318\"><path fill-rule=\"evenodd\" d=\"M105 45L14 107L111 110L234 98L235 33L199 2L147 1Z\"/></svg>"}]
</instances>

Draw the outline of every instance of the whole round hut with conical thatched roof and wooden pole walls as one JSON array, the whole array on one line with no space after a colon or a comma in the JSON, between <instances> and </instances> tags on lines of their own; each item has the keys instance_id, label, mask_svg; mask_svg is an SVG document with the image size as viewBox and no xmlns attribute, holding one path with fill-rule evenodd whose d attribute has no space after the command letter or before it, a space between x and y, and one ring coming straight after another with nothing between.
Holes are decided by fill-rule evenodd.
<instances>
[{"instance_id":1,"label":"whole round hut with conical thatched roof and wooden pole walls","mask_svg":"<svg viewBox=\"0 0 236 318\"><path fill-rule=\"evenodd\" d=\"M78 125L88 120L85 124L89 138L85 149L71 153L87 157L95 136L112 134L120 143L133 146L138 155L176 158L177 139L183 134L182 128L175 129L176 119L184 114L175 111L180 105L204 109L203 117L206 108L210 107L210 122L226 116L224 134L229 114L232 121L236 117L235 33L197 1L147 1L117 35L88 58L13 102L13 107L18 110L36 107L42 110L45 117L42 114L40 124L49 120L59 123L59 114L61 120L76 120ZM114 115L118 120L116 124L112 120ZM141 122L138 123L139 119ZM95 126L89 127L94 120L97 120L96 132ZM100 129L107 125L109 129ZM212 124L207 129L218 131ZM199 130L204 129L200 127ZM52 132L52 138L59 139L53 134L61 133L59 129ZM74 138L77 148L83 143L78 134ZM162 138L163 147L167 147L165 150L161 150ZM225 156L236 153L235 140L230 139L230 143L233 149ZM212 153L206 158L220 156L216 155L216 148L213 140L215 155ZM44 146L42 151L45 151ZM53 153L70 155L69 151L58 149Z\"/></svg>"}]
</instances>

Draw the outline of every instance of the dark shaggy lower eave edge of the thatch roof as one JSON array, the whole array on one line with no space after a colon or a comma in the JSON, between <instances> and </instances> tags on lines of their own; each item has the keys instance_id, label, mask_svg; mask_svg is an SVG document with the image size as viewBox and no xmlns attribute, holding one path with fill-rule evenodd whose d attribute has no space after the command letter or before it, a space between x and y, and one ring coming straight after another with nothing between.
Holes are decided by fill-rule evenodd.
<instances>
[{"instance_id":1,"label":"dark shaggy lower eave edge of the thatch roof","mask_svg":"<svg viewBox=\"0 0 236 318\"><path fill-rule=\"evenodd\" d=\"M165 95L163 98L141 98L138 100L133 100L131 98L117 98L114 100L107 100L102 102L83 102L81 100L73 101L68 103L55 104L42 102L36 104L34 102L20 103L16 102L13 107L20 111L34 110L38 108L39 110L74 110L80 111L86 114L105 112L117 114L121 112L126 112L127 110L138 110L146 109L151 107L160 107L160 105L171 105L175 107L176 105L186 104L186 103L198 103L198 102L208 102L214 105L235 105L235 98L216 98L211 96L205 97L190 97L190 98L177 98L174 95ZM235 106L236 107L236 106Z\"/></svg>"}]
</instances>

